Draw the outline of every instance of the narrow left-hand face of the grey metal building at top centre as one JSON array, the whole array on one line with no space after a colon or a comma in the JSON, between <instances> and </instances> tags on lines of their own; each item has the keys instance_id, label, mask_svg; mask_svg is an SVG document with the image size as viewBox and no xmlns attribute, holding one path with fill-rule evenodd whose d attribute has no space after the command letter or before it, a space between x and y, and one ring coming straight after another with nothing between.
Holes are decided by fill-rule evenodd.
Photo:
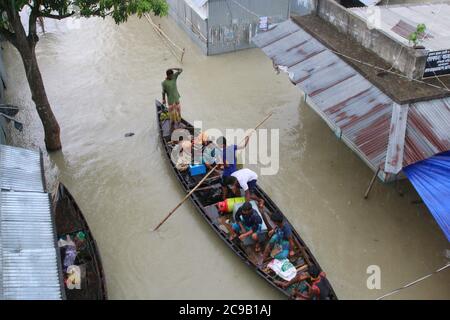
<instances>
[{"instance_id":1,"label":"narrow left-hand face of the grey metal building at top centre","mask_svg":"<svg viewBox=\"0 0 450 320\"><path fill-rule=\"evenodd\" d=\"M167 0L167 3L170 6L169 15L207 54L207 21L200 18L184 0Z\"/></svg>"}]
</instances>

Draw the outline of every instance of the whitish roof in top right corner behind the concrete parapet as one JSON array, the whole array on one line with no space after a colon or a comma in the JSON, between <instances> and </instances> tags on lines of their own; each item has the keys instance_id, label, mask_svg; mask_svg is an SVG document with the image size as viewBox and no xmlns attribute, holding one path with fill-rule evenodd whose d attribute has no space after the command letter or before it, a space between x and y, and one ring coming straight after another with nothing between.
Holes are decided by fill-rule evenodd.
<instances>
[{"instance_id":1,"label":"whitish roof in top right corner behind the concrete parapet","mask_svg":"<svg viewBox=\"0 0 450 320\"><path fill-rule=\"evenodd\" d=\"M425 48L432 51L450 48L450 3L399 4L350 10L364 21L371 19L377 29L406 45L411 32L419 23L424 23L428 36L421 44Z\"/></svg>"}]
</instances>

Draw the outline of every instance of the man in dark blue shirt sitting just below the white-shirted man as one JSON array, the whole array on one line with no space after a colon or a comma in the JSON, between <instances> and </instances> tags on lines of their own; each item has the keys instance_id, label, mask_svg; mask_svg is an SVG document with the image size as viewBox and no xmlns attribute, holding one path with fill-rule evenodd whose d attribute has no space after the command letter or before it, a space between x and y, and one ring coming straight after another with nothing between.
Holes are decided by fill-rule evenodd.
<instances>
[{"instance_id":1,"label":"man in dark blue shirt sitting just below the white-shirted man","mask_svg":"<svg viewBox=\"0 0 450 320\"><path fill-rule=\"evenodd\" d=\"M235 222L231 225L230 240L239 236L239 240L244 241L251 237L255 241L255 251L261 251L259 239L261 237L262 219L253 209L250 202L244 204L238 209L235 215Z\"/></svg>"}]
</instances>

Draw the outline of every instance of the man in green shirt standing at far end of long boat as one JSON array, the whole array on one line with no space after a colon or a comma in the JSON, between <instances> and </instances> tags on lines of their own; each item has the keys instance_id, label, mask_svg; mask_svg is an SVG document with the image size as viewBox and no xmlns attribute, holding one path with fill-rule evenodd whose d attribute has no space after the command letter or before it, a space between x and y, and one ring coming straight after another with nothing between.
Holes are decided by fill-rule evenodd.
<instances>
[{"instance_id":1,"label":"man in green shirt standing at far end of long boat","mask_svg":"<svg viewBox=\"0 0 450 320\"><path fill-rule=\"evenodd\" d=\"M169 105L170 131L178 128L181 121L180 94L177 88L177 78L182 72L183 69L181 68L168 69L166 71L166 80L161 84L162 103L166 105L167 102Z\"/></svg>"}]
</instances>

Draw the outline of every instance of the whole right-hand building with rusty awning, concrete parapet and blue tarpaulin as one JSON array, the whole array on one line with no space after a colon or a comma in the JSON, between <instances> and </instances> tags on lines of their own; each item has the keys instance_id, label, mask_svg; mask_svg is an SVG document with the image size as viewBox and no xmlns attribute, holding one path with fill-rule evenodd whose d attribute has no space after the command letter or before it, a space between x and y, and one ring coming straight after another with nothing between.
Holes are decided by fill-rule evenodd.
<instances>
[{"instance_id":1,"label":"whole right-hand building with rusty awning, concrete parapet and blue tarpaulin","mask_svg":"<svg viewBox=\"0 0 450 320\"><path fill-rule=\"evenodd\" d=\"M379 179L411 180L450 241L448 6L441 5L442 16L439 4L416 15L407 5L409 15L394 16L398 7L387 6L380 11L389 14L370 24L367 8L333 0L305 5L308 15L258 34L254 43ZM430 26L420 48L405 41L419 23Z\"/></svg>"}]
</instances>

